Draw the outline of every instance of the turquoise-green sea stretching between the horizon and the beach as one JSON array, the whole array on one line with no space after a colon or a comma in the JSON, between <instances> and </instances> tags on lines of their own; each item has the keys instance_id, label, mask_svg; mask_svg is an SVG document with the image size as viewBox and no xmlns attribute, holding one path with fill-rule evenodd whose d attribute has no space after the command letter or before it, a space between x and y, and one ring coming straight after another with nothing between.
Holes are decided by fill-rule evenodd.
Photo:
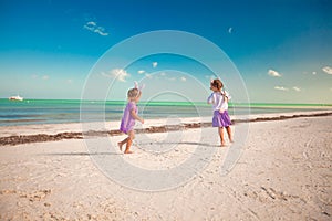
<instances>
[{"instance_id":1,"label":"turquoise-green sea stretching between the horizon and the beach","mask_svg":"<svg viewBox=\"0 0 332 221\"><path fill-rule=\"evenodd\" d=\"M81 112L87 113L84 120L120 120L126 105L124 101L80 99L0 99L0 126L79 123ZM81 107L84 107L84 110ZM206 103L141 102L139 115L144 118L206 117L211 116L211 106ZM86 108L89 107L89 108ZM230 104L230 115L289 113L298 110L332 109L332 105L319 104Z\"/></svg>"}]
</instances>

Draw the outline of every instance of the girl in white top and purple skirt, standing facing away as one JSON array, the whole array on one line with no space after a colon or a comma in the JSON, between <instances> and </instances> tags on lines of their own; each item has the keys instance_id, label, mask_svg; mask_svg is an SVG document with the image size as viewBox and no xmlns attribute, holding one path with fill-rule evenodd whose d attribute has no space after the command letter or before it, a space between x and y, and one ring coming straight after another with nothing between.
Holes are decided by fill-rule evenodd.
<instances>
[{"instance_id":1,"label":"girl in white top and purple skirt, standing facing away","mask_svg":"<svg viewBox=\"0 0 332 221\"><path fill-rule=\"evenodd\" d=\"M226 128L230 143L232 143L232 137L230 129L231 120L228 115L228 99L230 96L227 92L221 91L222 86L220 80L212 80L210 82L210 90L214 91L214 93L208 97L208 104L212 104L214 106L212 126L218 127L221 146L224 147L226 146L224 127Z\"/></svg>"}]
</instances>

